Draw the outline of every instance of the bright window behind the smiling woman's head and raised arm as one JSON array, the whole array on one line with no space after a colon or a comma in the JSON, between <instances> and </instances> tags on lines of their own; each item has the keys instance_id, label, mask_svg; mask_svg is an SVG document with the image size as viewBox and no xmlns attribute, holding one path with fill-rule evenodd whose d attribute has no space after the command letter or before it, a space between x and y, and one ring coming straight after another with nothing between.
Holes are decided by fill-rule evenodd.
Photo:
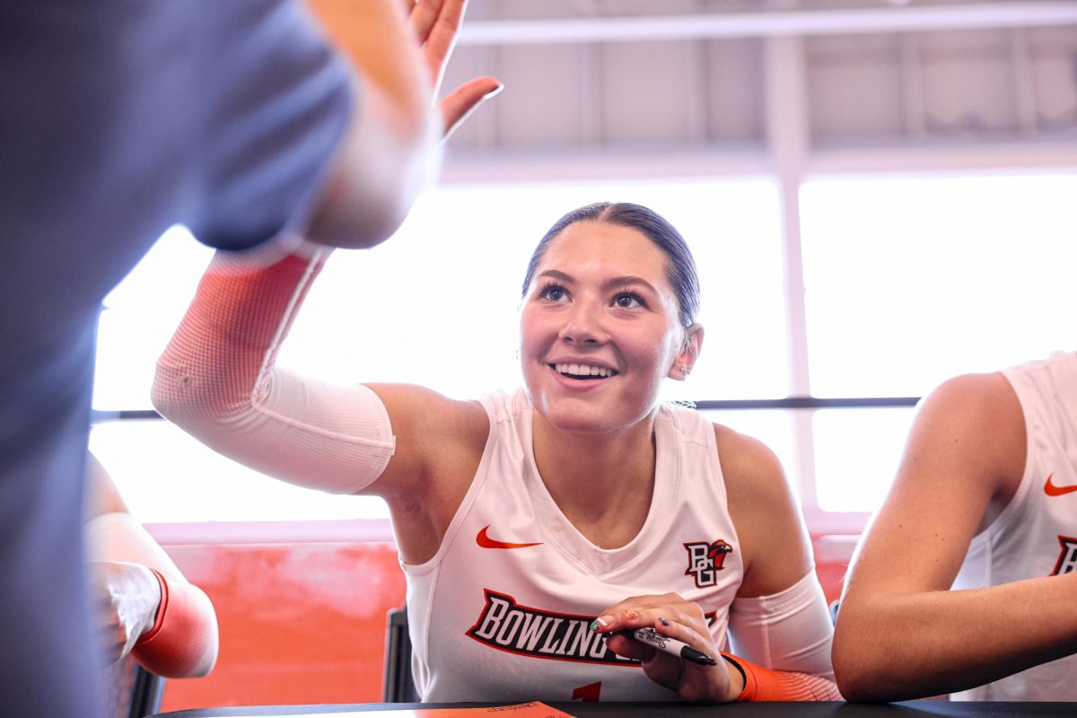
<instances>
[{"instance_id":1,"label":"bright window behind the smiling woman's head and raised arm","mask_svg":"<svg viewBox=\"0 0 1077 718\"><path fill-rule=\"evenodd\" d=\"M392 240L331 258L279 364L326 381L405 381L454 397L515 388L528 258L561 214L599 199L653 208L696 255L707 338L691 380L670 382L668 398L785 395L778 199L764 181L453 185L431 192ZM96 409L150 408L154 364L210 255L173 228L106 299ZM103 422L92 449L144 521L386 516L377 501L348 502L265 479L165 422Z\"/></svg>"}]
</instances>

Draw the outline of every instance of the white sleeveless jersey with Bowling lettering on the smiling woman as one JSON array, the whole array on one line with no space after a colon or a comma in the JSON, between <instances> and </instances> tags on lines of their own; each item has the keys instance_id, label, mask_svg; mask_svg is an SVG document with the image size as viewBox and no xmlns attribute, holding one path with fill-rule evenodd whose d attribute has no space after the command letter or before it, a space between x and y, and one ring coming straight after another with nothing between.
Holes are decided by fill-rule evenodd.
<instances>
[{"instance_id":1,"label":"white sleeveless jersey with Bowling lettering on the smiling woman","mask_svg":"<svg viewBox=\"0 0 1077 718\"><path fill-rule=\"evenodd\" d=\"M728 648L744 572L713 425L694 410L659 409L649 512L629 544L607 550L546 491L527 395L481 403L490 436L472 485L434 558L403 566L422 700L677 700L589 627L625 599L673 591L702 606Z\"/></svg>"}]
</instances>

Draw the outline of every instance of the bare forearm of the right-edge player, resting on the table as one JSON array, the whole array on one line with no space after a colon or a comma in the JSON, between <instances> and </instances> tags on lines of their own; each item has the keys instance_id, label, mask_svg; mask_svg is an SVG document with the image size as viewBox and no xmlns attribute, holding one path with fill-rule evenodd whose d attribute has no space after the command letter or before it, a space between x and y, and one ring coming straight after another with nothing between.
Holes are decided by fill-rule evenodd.
<instances>
[{"instance_id":1,"label":"bare forearm of the right-edge player, resting on the table","mask_svg":"<svg viewBox=\"0 0 1077 718\"><path fill-rule=\"evenodd\" d=\"M865 597L851 587L835 634L838 686L850 701L909 700L1068 656L1077 651L1075 591L1077 574Z\"/></svg>"}]
</instances>

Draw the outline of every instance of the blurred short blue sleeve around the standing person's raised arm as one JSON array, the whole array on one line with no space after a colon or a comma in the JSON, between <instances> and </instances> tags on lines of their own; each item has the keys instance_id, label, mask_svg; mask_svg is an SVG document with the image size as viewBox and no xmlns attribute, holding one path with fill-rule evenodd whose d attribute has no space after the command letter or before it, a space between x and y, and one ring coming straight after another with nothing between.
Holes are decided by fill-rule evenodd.
<instances>
[{"instance_id":1,"label":"blurred short blue sleeve around the standing person's raised arm","mask_svg":"<svg viewBox=\"0 0 1077 718\"><path fill-rule=\"evenodd\" d=\"M308 219L352 108L351 74L305 5L228 6L199 38L200 212L191 228L216 248L247 249ZM218 3L214 3L218 4Z\"/></svg>"}]
</instances>

